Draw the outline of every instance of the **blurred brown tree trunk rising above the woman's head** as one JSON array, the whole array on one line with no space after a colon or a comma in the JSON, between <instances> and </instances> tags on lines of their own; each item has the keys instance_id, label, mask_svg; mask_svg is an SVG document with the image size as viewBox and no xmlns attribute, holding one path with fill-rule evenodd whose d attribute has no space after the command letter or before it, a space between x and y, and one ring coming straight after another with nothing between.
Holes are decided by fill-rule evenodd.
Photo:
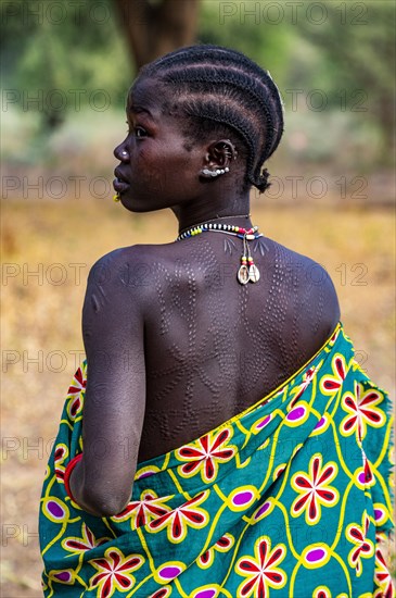
<instances>
[{"instance_id":1,"label":"blurred brown tree trunk rising above the woman's head","mask_svg":"<svg viewBox=\"0 0 396 598\"><path fill-rule=\"evenodd\" d=\"M199 2L115 0L137 68L195 41Z\"/></svg>"}]
</instances>

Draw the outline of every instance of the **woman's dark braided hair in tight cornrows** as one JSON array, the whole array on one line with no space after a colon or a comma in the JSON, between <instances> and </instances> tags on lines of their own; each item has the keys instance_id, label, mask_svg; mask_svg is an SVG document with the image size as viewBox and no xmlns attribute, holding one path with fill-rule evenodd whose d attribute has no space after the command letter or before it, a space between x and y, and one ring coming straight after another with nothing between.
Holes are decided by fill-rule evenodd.
<instances>
[{"instance_id":1,"label":"woman's dark braided hair in tight cornrows","mask_svg":"<svg viewBox=\"0 0 396 598\"><path fill-rule=\"evenodd\" d=\"M202 140L214 130L237 137L246 161L244 185L260 192L269 187L269 173L261 166L282 137L283 104L267 71L237 50L199 45L143 66L138 80L145 76L171 89L173 109L187 119L189 139Z\"/></svg>"}]
</instances>

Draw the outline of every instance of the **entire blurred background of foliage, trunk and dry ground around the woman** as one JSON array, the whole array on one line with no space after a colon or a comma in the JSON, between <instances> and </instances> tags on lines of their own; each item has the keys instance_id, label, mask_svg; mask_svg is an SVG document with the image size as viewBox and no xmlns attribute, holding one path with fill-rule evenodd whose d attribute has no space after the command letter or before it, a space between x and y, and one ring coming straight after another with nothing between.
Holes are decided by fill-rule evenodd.
<instances>
[{"instance_id":1,"label":"entire blurred background of foliage, trunk and dry ground around the woman","mask_svg":"<svg viewBox=\"0 0 396 598\"><path fill-rule=\"evenodd\" d=\"M176 237L112 201L139 66L196 41L269 70L285 133L253 220L332 277L369 375L395 384L395 4L217 0L1 3L2 596L39 597L38 504L94 261ZM391 556L392 559L394 557ZM393 564L393 568L395 565Z\"/></svg>"}]
</instances>

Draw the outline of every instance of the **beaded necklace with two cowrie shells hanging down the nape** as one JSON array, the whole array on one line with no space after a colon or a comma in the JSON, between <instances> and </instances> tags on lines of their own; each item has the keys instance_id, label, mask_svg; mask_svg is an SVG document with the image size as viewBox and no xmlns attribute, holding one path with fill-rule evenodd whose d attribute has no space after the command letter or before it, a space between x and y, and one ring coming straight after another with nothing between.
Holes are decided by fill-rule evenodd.
<instances>
[{"instance_id":1,"label":"beaded necklace with two cowrie shells hanging down the nape","mask_svg":"<svg viewBox=\"0 0 396 598\"><path fill-rule=\"evenodd\" d=\"M241 256L241 265L237 273L237 278L241 285L246 285L247 283L257 283L260 277L258 267L253 261L251 248L248 241L258 239L263 237L258 233L258 226L253 226L252 228L243 228L242 226L235 226L233 224L221 224L221 223L208 223L204 222L202 224L196 224L188 231L184 231L177 237L177 241L188 239L189 237L194 237L201 235L202 233L222 233L226 235L232 235L233 237L239 237L243 240L243 253Z\"/></svg>"}]
</instances>

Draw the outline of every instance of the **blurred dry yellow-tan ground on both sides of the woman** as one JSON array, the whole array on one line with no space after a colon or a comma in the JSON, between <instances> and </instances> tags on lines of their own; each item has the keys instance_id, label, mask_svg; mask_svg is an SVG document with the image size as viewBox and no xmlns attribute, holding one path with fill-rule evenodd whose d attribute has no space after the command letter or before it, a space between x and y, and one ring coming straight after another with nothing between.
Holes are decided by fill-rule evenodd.
<instances>
[{"instance_id":1,"label":"blurred dry yellow-tan ground on both sides of the woman","mask_svg":"<svg viewBox=\"0 0 396 598\"><path fill-rule=\"evenodd\" d=\"M261 201L267 236L324 265L358 359L395 383L394 215L334 204ZM166 242L170 213L132 215L112 202L4 202L2 328L2 561L4 598L41 596L37 513L63 397L81 349L80 308L92 263L115 247ZM36 275L34 274L36 272Z\"/></svg>"}]
</instances>

